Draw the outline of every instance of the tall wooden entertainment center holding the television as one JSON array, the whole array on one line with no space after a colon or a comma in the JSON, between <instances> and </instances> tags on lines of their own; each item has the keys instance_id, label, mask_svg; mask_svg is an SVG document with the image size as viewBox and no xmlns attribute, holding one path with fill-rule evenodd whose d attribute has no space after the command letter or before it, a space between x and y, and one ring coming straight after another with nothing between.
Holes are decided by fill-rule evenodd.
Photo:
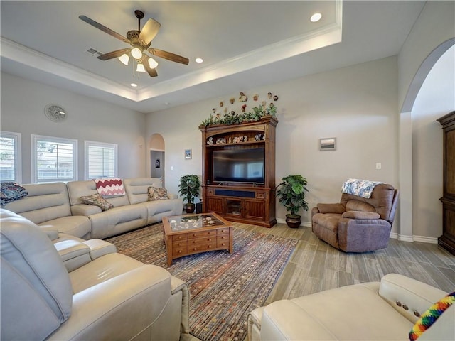
<instances>
[{"instance_id":1,"label":"tall wooden entertainment center holding the television","mask_svg":"<svg viewBox=\"0 0 455 341\"><path fill-rule=\"evenodd\" d=\"M257 122L199 126L203 150L203 212L215 212L234 222L272 227L275 218L275 128L270 115ZM264 148L264 173L259 182L214 180L215 151ZM215 152L216 153L216 152Z\"/></svg>"}]
</instances>

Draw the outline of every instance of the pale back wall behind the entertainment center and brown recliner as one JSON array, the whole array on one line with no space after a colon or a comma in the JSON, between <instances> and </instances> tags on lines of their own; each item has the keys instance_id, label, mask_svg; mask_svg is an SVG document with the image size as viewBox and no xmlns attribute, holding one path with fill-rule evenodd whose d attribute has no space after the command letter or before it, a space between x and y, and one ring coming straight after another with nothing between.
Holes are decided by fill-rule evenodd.
<instances>
[{"instance_id":1,"label":"pale back wall behind the entertainment center and brown recliner","mask_svg":"<svg viewBox=\"0 0 455 341\"><path fill-rule=\"evenodd\" d=\"M309 181L310 209L318 202L338 202L347 178L398 185L397 58L239 91L245 91L250 101L255 93L279 96L276 182L288 174L303 175ZM146 117L146 135L159 133L164 137L166 187L171 192L177 193L181 175L201 175L198 125L210 116L213 107L218 107L220 101L228 102L230 97L237 98L238 93ZM336 151L319 151L319 139L324 137L337 138ZM188 148L193 149L191 160L183 156ZM375 169L376 162L382 163L382 169ZM284 219L285 214L277 204L277 217ZM310 213L304 212L302 220L309 224Z\"/></svg>"}]
</instances>

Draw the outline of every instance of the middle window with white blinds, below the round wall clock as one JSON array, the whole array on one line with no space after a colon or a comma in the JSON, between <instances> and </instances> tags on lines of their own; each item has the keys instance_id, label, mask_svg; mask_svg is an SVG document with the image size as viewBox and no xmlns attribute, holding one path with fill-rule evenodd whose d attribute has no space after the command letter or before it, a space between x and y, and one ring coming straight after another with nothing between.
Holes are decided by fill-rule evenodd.
<instances>
[{"instance_id":1,"label":"middle window with white blinds, below the round wall clock","mask_svg":"<svg viewBox=\"0 0 455 341\"><path fill-rule=\"evenodd\" d=\"M49 136L31 136L32 181L77 180L77 140Z\"/></svg>"}]
</instances>

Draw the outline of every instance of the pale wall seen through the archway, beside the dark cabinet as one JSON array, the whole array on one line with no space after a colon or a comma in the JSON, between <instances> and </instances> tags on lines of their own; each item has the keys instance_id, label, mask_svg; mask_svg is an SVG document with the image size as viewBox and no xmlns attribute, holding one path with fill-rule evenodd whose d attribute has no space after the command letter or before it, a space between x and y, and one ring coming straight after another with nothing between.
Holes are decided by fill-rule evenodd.
<instances>
[{"instance_id":1,"label":"pale wall seen through the archway, beside the dark cabinet","mask_svg":"<svg viewBox=\"0 0 455 341\"><path fill-rule=\"evenodd\" d=\"M443 141L436 120L455 109L455 47L424 80L412 108L412 221L414 240L442 233Z\"/></svg>"}]
</instances>

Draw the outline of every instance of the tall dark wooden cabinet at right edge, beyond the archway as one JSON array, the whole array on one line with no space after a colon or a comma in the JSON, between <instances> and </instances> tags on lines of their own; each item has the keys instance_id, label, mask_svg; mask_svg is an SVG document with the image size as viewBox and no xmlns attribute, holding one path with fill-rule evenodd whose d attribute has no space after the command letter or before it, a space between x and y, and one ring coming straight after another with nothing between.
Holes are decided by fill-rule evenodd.
<instances>
[{"instance_id":1,"label":"tall dark wooden cabinet at right edge, beyond the archway","mask_svg":"<svg viewBox=\"0 0 455 341\"><path fill-rule=\"evenodd\" d=\"M438 244L455 254L455 112L437 119L444 129L442 235Z\"/></svg>"}]
</instances>

